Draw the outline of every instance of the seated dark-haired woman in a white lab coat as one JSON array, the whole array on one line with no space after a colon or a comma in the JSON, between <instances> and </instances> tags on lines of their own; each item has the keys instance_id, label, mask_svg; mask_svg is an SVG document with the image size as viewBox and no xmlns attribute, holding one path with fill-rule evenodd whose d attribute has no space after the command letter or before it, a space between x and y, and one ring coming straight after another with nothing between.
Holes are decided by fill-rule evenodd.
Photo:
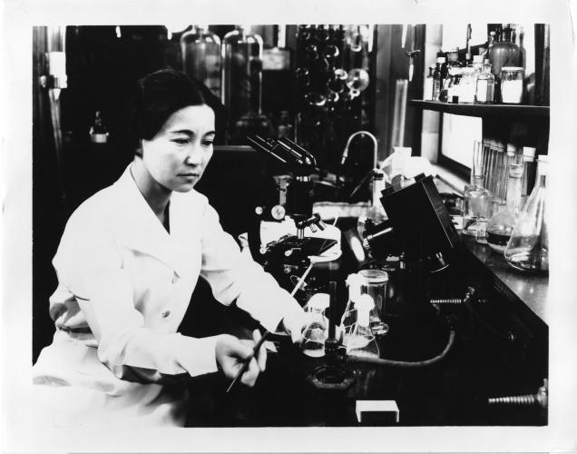
<instances>
[{"instance_id":1,"label":"seated dark-haired woman in a white lab coat","mask_svg":"<svg viewBox=\"0 0 577 454\"><path fill-rule=\"evenodd\" d=\"M139 87L132 163L73 212L54 256L56 332L34 365L34 388L59 425L182 425L183 379L236 375L250 345L176 332L199 275L217 300L236 301L270 331L298 341L305 324L298 303L240 253L193 190L215 137L207 92L170 70ZM264 370L264 349L257 356L242 379L249 386Z\"/></svg>"}]
</instances>

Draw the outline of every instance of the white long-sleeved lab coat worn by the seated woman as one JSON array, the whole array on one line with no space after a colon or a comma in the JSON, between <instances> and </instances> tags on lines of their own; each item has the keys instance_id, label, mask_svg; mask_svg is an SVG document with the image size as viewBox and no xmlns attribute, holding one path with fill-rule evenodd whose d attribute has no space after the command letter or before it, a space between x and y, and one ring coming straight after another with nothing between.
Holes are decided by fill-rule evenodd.
<instances>
[{"instance_id":1,"label":"white long-sleeved lab coat worn by the seated woman","mask_svg":"<svg viewBox=\"0 0 577 454\"><path fill-rule=\"evenodd\" d=\"M199 275L218 301L236 300L268 330L302 311L223 232L206 197L173 192L169 217L170 234L129 166L68 221L53 261L54 341L33 368L34 383L44 385L34 387L37 399L54 405L55 424L183 423L179 379L217 370L218 336L176 332Z\"/></svg>"}]
</instances>

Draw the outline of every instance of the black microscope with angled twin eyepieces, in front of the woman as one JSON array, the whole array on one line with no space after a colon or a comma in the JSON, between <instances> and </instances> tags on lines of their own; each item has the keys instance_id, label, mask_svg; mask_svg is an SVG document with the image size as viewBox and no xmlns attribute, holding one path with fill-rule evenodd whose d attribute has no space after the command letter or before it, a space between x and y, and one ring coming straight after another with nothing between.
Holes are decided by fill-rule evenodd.
<instances>
[{"instance_id":1,"label":"black microscope with angled twin eyepieces, in front of the woman","mask_svg":"<svg viewBox=\"0 0 577 454\"><path fill-rule=\"evenodd\" d=\"M267 153L291 173L288 179L279 180L277 201L256 207L254 222L248 232L253 259L281 287L290 291L307 271L310 257L319 256L337 244L336 240L305 234L307 229L315 233L327 228L318 213L312 212L313 186L310 176L318 173L317 161L307 150L286 138L265 139L254 135L247 139L255 150ZM294 221L296 234L291 232L273 241L262 241L262 222L288 222L288 218Z\"/></svg>"}]
</instances>

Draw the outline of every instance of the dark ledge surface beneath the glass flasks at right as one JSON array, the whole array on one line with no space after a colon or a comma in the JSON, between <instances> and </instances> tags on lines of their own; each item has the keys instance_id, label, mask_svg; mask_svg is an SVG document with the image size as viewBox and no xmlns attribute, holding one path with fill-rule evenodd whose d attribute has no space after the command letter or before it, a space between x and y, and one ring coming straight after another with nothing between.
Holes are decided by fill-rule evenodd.
<instances>
[{"instance_id":1,"label":"dark ledge surface beneath the glass flasks at right","mask_svg":"<svg viewBox=\"0 0 577 454\"><path fill-rule=\"evenodd\" d=\"M466 248L472 252L488 271L494 275L494 286L513 303L523 303L544 323L547 320L547 291L549 277L517 271L505 262L504 257L489 246L463 237Z\"/></svg>"}]
</instances>

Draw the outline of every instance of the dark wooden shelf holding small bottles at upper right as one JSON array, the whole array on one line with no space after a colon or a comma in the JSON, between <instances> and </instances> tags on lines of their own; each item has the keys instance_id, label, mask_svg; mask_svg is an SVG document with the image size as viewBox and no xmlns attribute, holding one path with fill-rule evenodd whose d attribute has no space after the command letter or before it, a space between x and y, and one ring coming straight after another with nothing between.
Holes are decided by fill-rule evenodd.
<instances>
[{"instance_id":1,"label":"dark wooden shelf holding small bottles at upper right","mask_svg":"<svg viewBox=\"0 0 577 454\"><path fill-rule=\"evenodd\" d=\"M444 114L476 117L549 117L549 106L524 104L447 104L412 99L413 107Z\"/></svg>"}]
</instances>

